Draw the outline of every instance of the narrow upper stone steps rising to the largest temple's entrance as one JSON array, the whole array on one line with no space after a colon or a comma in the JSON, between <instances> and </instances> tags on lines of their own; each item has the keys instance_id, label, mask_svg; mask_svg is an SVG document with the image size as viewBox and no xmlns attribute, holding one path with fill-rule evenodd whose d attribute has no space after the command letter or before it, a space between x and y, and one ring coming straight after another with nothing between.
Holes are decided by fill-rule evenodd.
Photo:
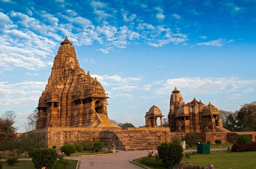
<instances>
[{"instance_id":1,"label":"narrow upper stone steps rising to the largest temple's entrance","mask_svg":"<svg viewBox=\"0 0 256 169\"><path fill-rule=\"evenodd\" d=\"M112 124L111 122L109 122L108 118L103 113L97 113L96 118L97 118L96 122L93 122L91 127L120 128L115 124Z\"/></svg>"}]
</instances>

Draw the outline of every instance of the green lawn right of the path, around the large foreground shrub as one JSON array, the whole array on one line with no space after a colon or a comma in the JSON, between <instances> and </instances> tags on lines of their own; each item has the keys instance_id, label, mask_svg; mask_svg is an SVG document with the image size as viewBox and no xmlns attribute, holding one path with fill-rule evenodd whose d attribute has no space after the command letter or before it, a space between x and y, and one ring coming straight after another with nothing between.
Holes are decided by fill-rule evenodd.
<instances>
[{"instance_id":1,"label":"green lawn right of the path, around the large foreground shrub","mask_svg":"<svg viewBox=\"0 0 256 169\"><path fill-rule=\"evenodd\" d=\"M184 157L182 163L199 166L209 166L212 164L215 169L253 169L256 163L256 152L211 152L211 154L195 154L190 155L190 158ZM141 160L134 161L141 163ZM144 165L144 164L142 164ZM151 167L151 169L163 169L162 167Z\"/></svg>"}]
</instances>

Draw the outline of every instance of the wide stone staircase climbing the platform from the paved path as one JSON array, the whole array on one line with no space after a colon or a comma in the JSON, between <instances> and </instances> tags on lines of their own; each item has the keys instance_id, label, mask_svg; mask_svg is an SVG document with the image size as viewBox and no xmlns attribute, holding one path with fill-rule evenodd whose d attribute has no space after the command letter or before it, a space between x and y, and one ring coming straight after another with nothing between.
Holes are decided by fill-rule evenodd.
<instances>
[{"instance_id":1,"label":"wide stone staircase climbing the platform from the paved path","mask_svg":"<svg viewBox=\"0 0 256 169\"><path fill-rule=\"evenodd\" d=\"M123 151L136 151L145 149L157 149L160 142L150 132L139 130L112 130L116 135L115 144Z\"/></svg>"}]
</instances>

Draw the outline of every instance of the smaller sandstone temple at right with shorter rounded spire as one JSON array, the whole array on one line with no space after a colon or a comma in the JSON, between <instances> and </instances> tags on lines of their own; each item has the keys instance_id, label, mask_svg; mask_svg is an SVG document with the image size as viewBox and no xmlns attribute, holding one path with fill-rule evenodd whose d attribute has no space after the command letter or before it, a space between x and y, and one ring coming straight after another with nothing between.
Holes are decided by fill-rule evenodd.
<instances>
[{"instance_id":1,"label":"smaller sandstone temple at right with shorter rounded spire","mask_svg":"<svg viewBox=\"0 0 256 169\"><path fill-rule=\"evenodd\" d=\"M180 91L172 91L169 111L171 132L216 132L222 127L221 113L210 102L208 105L195 98L185 104Z\"/></svg>"}]
</instances>

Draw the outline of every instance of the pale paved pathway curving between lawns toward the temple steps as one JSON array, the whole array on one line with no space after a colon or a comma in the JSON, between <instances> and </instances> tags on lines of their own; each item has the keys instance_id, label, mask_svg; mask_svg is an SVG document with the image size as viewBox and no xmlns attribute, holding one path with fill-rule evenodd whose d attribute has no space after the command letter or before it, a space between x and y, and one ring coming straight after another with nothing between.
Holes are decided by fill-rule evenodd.
<instances>
[{"instance_id":1,"label":"pale paved pathway curving between lawns toward the temple steps","mask_svg":"<svg viewBox=\"0 0 256 169\"><path fill-rule=\"evenodd\" d=\"M211 149L211 151L224 151L227 149ZM142 169L140 166L136 166L130 163L131 159L146 156L148 153L143 151L121 151L114 155L100 155L100 156L87 156L87 157L66 157L67 159L80 160L80 169ZM184 150L185 152L196 152L195 149ZM156 150L154 150L156 152ZM23 158L19 160L31 160L29 158Z\"/></svg>"}]
</instances>

